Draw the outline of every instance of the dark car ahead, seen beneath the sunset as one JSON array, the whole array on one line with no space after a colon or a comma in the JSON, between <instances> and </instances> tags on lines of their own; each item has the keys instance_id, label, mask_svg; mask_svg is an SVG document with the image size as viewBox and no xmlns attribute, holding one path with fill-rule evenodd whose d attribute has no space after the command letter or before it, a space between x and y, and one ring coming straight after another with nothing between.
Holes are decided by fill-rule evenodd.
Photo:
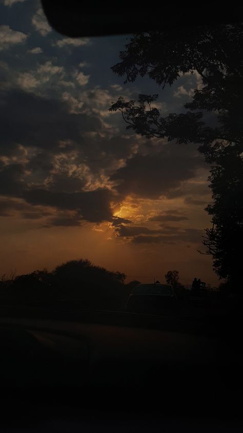
<instances>
[{"instance_id":1,"label":"dark car ahead, seen beneath the sunset","mask_svg":"<svg viewBox=\"0 0 243 433\"><path fill-rule=\"evenodd\" d=\"M125 305L129 312L171 314L178 298L170 284L137 284Z\"/></svg>"}]
</instances>

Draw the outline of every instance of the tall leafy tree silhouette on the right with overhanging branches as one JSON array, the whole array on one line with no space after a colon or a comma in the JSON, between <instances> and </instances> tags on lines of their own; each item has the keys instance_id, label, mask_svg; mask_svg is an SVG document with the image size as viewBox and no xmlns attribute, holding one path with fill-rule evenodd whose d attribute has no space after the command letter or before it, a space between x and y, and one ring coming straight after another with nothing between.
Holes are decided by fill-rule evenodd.
<instances>
[{"instance_id":1,"label":"tall leafy tree silhouette on the right with overhanging branches","mask_svg":"<svg viewBox=\"0 0 243 433\"><path fill-rule=\"evenodd\" d=\"M125 83L148 76L164 88L181 75L199 74L185 113L161 117L153 106L158 95L139 95L138 103L120 97L110 111L120 111L127 128L147 138L166 137L178 144L196 143L210 164L213 204L206 208L212 226L206 229L203 254L212 255L219 278L241 282L243 241L243 24L180 27L135 34L120 52L114 73ZM207 122L212 113L214 126ZM199 251L201 252L201 251Z\"/></svg>"}]
</instances>

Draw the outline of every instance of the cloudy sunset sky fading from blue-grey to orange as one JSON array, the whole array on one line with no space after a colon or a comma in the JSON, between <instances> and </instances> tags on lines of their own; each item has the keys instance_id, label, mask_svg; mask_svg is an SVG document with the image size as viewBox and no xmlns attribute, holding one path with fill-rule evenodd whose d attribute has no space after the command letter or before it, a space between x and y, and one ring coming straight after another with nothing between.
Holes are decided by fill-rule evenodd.
<instances>
[{"instance_id":1,"label":"cloudy sunset sky fading from blue-grey to orange","mask_svg":"<svg viewBox=\"0 0 243 433\"><path fill-rule=\"evenodd\" d=\"M161 115L179 113L199 75L125 85L111 66L129 35L64 37L33 0L3 0L0 17L0 275L88 258L127 281L177 269L217 285L197 252L211 201L197 146L135 135L108 111L158 93Z\"/></svg>"}]
</instances>

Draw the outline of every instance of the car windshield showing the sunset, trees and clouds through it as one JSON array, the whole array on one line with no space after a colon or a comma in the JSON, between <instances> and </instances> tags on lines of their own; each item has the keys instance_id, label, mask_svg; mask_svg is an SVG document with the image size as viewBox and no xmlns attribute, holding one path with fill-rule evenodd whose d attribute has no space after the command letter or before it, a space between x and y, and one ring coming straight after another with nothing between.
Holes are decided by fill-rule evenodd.
<instances>
[{"instance_id":1,"label":"car windshield showing the sunset, trees and clouds through it","mask_svg":"<svg viewBox=\"0 0 243 433\"><path fill-rule=\"evenodd\" d=\"M0 12L2 304L238 293L242 25L72 38L38 1Z\"/></svg>"}]
</instances>

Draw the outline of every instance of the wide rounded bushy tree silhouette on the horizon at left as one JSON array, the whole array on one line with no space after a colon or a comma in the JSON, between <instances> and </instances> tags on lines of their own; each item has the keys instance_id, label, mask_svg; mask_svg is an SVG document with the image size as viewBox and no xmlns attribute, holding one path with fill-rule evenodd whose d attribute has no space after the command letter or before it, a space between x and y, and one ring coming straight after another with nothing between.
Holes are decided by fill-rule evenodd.
<instances>
[{"instance_id":1,"label":"wide rounded bushy tree silhouette on the horizon at left","mask_svg":"<svg viewBox=\"0 0 243 433\"><path fill-rule=\"evenodd\" d=\"M17 303L86 299L95 305L98 299L125 300L126 275L93 265L87 259L70 260L47 269L35 270L7 281L0 281L0 298ZM129 292L130 293L130 292Z\"/></svg>"}]
</instances>

